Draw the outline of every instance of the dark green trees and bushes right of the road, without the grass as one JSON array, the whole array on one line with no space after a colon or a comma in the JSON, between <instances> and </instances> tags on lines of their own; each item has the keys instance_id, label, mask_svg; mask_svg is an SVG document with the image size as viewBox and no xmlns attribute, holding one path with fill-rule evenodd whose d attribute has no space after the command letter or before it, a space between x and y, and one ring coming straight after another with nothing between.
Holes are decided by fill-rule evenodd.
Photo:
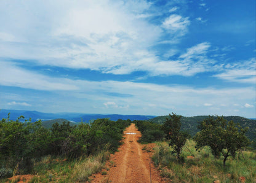
<instances>
[{"instance_id":1,"label":"dark green trees and bushes right of the road, without the grass","mask_svg":"<svg viewBox=\"0 0 256 183\"><path fill-rule=\"evenodd\" d=\"M179 162L184 161L182 149L186 139L190 138L188 131L182 131L181 115L169 114L162 125L148 121L136 121L138 130L142 132L141 142L153 142L159 139L166 139L173 149L173 154L177 156ZM209 116L199 122L198 133L193 137L196 142L196 150L201 150L204 146L209 146L214 157L223 156L223 166L226 159L235 156L236 152L249 146L250 141L246 136L248 128L242 128L232 120L227 121L224 117Z\"/></svg>"}]
</instances>

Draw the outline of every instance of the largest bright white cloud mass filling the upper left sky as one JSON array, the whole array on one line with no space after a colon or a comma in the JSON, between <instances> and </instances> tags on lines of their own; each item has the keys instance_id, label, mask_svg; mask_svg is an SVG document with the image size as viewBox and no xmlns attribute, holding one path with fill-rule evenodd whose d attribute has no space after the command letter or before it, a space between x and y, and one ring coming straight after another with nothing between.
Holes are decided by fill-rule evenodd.
<instances>
[{"instance_id":1,"label":"largest bright white cloud mass filling the upper left sky","mask_svg":"<svg viewBox=\"0 0 256 183\"><path fill-rule=\"evenodd\" d=\"M137 52L148 52L162 33L158 26L137 17L151 6L146 1L24 3L24 9L30 11L20 8L24 4L18 2L1 3L0 9L5 9L0 11L4 17L0 18L4 28L0 37L7 39L8 33L8 40L23 40L15 44L0 41L3 58L110 72L143 58ZM26 31L28 27L30 31Z\"/></svg>"}]
</instances>

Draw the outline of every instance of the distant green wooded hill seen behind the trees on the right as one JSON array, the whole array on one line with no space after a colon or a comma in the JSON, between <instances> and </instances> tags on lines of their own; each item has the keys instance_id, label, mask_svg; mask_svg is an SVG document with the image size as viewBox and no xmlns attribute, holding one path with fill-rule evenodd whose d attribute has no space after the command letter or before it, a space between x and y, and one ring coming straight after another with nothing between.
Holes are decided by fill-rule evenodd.
<instances>
[{"instance_id":1,"label":"distant green wooded hill seen behind the trees on the right","mask_svg":"<svg viewBox=\"0 0 256 183\"><path fill-rule=\"evenodd\" d=\"M182 130L188 131L191 136L194 136L199 130L198 130L198 124L199 122L202 122L202 120L209 117L208 115L198 115L193 117L183 117L181 118L182 122ZM166 121L166 118L169 118L169 115L164 116L158 116L153 119L150 119L148 121L153 123L159 123L162 124ZM246 135L250 140L256 138L256 120L247 119L245 117L240 116L225 116L225 120L233 121L234 123L239 123L242 128L249 127L249 130L247 131Z\"/></svg>"}]
</instances>

